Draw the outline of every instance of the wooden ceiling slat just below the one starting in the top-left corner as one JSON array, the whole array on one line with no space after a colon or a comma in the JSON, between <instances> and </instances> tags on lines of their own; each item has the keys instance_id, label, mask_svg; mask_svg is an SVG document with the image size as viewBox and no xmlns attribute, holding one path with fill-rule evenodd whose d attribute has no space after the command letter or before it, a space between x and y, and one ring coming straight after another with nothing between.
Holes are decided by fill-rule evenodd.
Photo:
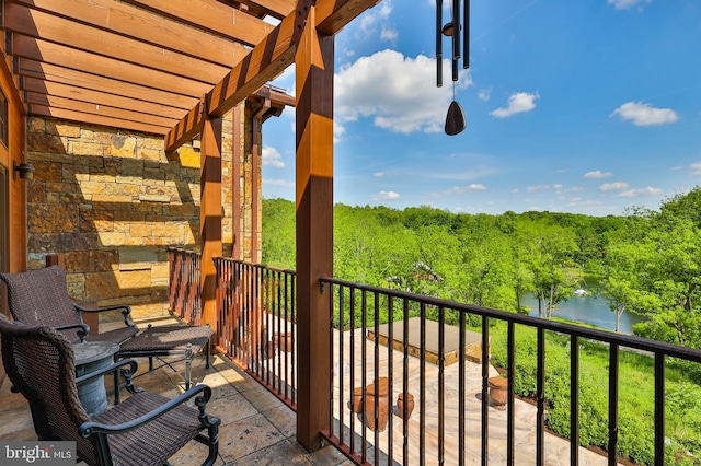
<instances>
[{"instance_id":1,"label":"wooden ceiling slat just below the one starting in the top-left corner","mask_svg":"<svg viewBox=\"0 0 701 466\"><path fill-rule=\"evenodd\" d=\"M172 75L162 71L143 69L137 65L124 63L107 57L65 47L46 40L13 34L12 50L15 56L35 61L85 71L120 81L143 84L183 95L202 96L211 86L200 81Z\"/></svg>"}]
</instances>

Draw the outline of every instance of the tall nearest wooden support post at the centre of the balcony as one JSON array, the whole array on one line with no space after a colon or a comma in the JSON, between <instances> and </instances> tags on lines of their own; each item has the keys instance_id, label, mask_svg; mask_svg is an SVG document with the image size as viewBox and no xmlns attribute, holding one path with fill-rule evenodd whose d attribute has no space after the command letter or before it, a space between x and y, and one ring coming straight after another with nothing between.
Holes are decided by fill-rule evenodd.
<instances>
[{"instance_id":1,"label":"tall nearest wooden support post at the centre of the balcony","mask_svg":"<svg viewBox=\"0 0 701 466\"><path fill-rule=\"evenodd\" d=\"M302 3L298 9L302 9ZM306 10L307 7L303 5ZM333 276L333 35L314 26L309 7L297 73L297 441L318 450L330 429L330 292L319 279Z\"/></svg>"}]
</instances>

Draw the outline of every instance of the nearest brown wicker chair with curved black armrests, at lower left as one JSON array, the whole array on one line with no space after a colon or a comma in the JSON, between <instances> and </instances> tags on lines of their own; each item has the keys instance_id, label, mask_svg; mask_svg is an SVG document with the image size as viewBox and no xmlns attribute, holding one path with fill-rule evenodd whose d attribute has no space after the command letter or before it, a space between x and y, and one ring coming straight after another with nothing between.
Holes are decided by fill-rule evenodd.
<instances>
[{"instance_id":1,"label":"nearest brown wicker chair with curved black armrests, at lower left","mask_svg":"<svg viewBox=\"0 0 701 466\"><path fill-rule=\"evenodd\" d=\"M39 440L74 441L78 457L88 465L160 465L192 440L209 447L203 465L217 459L220 421L205 413L211 397L207 385L172 400L137 391L130 383L137 366L133 360L76 378L73 347L55 329L0 318L0 334L5 371L30 403ZM131 396L91 419L77 384L111 371L123 372ZM197 408L185 405L193 397Z\"/></svg>"}]
</instances>

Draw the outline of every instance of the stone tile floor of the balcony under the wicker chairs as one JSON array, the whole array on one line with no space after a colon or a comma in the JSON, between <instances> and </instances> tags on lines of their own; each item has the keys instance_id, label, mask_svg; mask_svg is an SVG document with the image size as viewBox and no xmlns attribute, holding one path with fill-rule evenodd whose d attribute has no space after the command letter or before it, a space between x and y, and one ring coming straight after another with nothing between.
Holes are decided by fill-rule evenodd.
<instances>
[{"instance_id":1,"label":"stone tile floor of the balcony under the wicker chairs","mask_svg":"<svg viewBox=\"0 0 701 466\"><path fill-rule=\"evenodd\" d=\"M151 372L148 371L148 359L137 358L137 362L136 386L169 398L183 392L183 361L170 358L170 368L156 360L156 369ZM204 356L198 354L193 361L193 382L211 387L212 399L207 412L221 419L216 465L353 464L333 446L314 453L304 451L295 440L295 412L222 356L212 356L212 364L206 369ZM111 391L110 386L107 391ZM110 399L110 393L107 396ZM0 385L0 442L21 440L36 440L36 434L26 400L10 392L10 381L5 376ZM206 446L191 442L170 463L199 465L206 457Z\"/></svg>"}]
</instances>

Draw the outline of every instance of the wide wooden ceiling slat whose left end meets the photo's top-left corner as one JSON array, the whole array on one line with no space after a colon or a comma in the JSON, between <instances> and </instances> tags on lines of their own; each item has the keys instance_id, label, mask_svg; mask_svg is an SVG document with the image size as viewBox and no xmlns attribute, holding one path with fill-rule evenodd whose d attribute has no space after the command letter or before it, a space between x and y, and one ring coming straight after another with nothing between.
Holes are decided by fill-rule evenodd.
<instances>
[{"instance_id":1,"label":"wide wooden ceiling slat whose left end meets the photo's top-left corner","mask_svg":"<svg viewBox=\"0 0 701 466\"><path fill-rule=\"evenodd\" d=\"M68 47L89 50L127 63L162 70L181 77L196 77L216 83L228 68L134 40L117 34L95 30L16 3L5 4L5 28L34 38L43 38ZM186 39L186 38L183 38Z\"/></svg>"}]
</instances>

